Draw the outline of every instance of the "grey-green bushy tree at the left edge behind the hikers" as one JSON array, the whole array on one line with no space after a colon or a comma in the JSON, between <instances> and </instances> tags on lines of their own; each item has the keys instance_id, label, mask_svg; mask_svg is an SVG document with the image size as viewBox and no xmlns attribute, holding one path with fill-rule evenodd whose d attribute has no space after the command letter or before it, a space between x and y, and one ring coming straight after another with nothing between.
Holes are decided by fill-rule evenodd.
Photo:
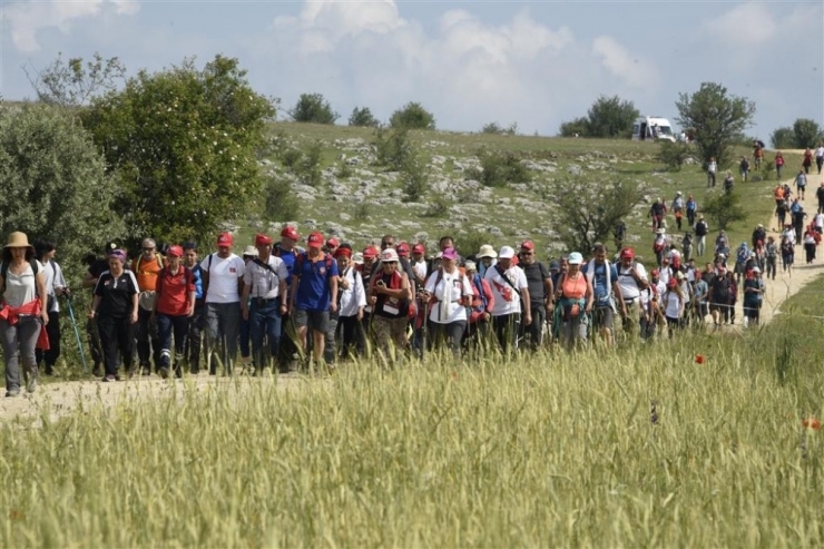
<instances>
[{"instance_id":1,"label":"grey-green bushy tree at the left edge behind the hikers","mask_svg":"<svg viewBox=\"0 0 824 549\"><path fill-rule=\"evenodd\" d=\"M0 233L53 239L63 265L119 238L118 188L75 119L53 107L0 109Z\"/></svg>"}]
</instances>

